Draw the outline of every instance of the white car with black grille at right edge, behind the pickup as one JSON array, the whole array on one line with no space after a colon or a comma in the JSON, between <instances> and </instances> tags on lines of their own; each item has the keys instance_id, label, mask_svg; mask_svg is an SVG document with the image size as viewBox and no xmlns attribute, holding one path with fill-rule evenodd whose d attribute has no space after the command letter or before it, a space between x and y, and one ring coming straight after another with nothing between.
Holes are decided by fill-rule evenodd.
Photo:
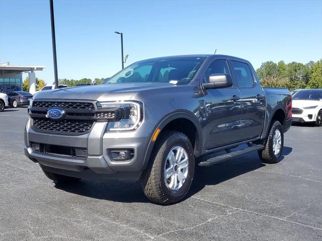
<instances>
[{"instance_id":1,"label":"white car with black grille at right edge, behind the pickup","mask_svg":"<svg viewBox=\"0 0 322 241\"><path fill-rule=\"evenodd\" d=\"M312 122L322 127L322 89L301 89L292 99L292 122Z\"/></svg>"}]
</instances>

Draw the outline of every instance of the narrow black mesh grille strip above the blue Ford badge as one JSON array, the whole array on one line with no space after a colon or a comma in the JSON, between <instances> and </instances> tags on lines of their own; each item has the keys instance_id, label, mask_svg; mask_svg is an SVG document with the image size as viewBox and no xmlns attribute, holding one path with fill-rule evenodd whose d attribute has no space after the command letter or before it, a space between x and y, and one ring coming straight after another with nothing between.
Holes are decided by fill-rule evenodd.
<instances>
[{"instance_id":1,"label":"narrow black mesh grille strip above the blue Ford badge","mask_svg":"<svg viewBox=\"0 0 322 241\"><path fill-rule=\"evenodd\" d=\"M95 109L93 103L89 102L60 102L60 101L34 101L32 104L33 107L38 108L51 108L51 107L65 107L67 109Z\"/></svg>"}]
</instances>

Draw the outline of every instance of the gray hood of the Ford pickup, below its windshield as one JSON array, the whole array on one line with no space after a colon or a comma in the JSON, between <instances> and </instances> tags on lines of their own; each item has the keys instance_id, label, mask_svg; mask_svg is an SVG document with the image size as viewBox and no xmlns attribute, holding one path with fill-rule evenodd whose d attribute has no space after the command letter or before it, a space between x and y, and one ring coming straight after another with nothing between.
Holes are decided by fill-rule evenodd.
<instances>
[{"instance_id":1,"label":"gray hood of the Ford pickup, below its windshield","mask_svg":"<svg viewBox=\"0 0 322 241\"><path fill-rule=\"evenodd\" d=\"M130 100L138 91L171 88L170 83L118 83L69 87L35 93L34 99L83 99L98 101Z\"/></svg>"}]
</instances>

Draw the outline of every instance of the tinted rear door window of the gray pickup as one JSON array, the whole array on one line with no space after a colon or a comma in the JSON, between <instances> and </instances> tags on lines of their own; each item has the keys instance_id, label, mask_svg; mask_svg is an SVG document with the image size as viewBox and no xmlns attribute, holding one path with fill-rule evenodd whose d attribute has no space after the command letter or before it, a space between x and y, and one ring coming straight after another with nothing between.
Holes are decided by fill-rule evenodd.
<instances>
[{"instance_id":1,"label":"tinted rear door window of the gray pickup","mask_svg":"<svg viewBox=\"0 0 322 241\"><path fill-rule=\"evenodd\" d=\"M252 87L254 85L254 79L248 64L233 60L231 64L238 87Z\"/></svg>"}]
</instances>

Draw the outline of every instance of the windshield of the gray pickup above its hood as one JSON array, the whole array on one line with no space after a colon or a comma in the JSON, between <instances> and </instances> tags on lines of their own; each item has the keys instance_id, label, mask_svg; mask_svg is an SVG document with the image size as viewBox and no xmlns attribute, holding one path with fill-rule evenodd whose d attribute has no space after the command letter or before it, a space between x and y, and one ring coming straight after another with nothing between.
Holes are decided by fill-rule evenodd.
<instances>
[{"instance_id":1,"label":"windshield of the gray pickup above its hood","mask_svg":"<svg viewBox=\"0 0 322 241\"><path fill-rule=\"evenodd\" d=\"M168 57L131 64L106 83L173 83L188 84L206 57Z\"/></svg>"}]
</instances>

